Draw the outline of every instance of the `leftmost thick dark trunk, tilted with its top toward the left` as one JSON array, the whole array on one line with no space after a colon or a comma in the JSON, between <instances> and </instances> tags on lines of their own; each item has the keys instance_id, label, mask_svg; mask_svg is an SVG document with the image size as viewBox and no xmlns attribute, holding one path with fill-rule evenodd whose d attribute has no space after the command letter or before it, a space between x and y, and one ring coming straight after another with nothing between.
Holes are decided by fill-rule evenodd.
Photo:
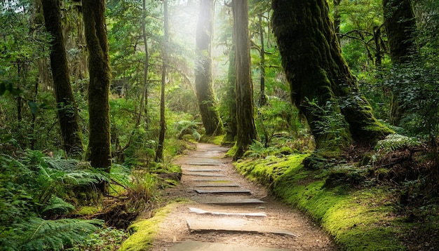
<instances>
[{"instance_id":1,"label":"leftmost thick dark trunk, tilted with its top toward the left","mask_svg":"<svg viewBox=\"0 0 439 251\"><path fill-rule=\"evenodd\" d=\"M81 128L76 103L70 86L67 55L62 35L60 1L43 0L43 13L46 29L53 36L50 51L50 67L58 108L63 149L67 156L80 157L83 154Z\"/></svg>"}]
</instances>

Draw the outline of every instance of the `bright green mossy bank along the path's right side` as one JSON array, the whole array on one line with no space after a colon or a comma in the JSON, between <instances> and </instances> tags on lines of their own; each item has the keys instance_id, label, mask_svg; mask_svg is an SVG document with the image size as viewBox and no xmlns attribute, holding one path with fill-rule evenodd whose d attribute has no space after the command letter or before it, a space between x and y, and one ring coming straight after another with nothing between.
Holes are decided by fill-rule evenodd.
<instances>
[{"instance_id":1,"label":"bright green mossy bank along the path's right side","mask_svg":"<svg viewBox=\"0 0 439 251\"><path fill-rule=\"evenodd\" d=\"M308 156L269 156L235 165L243 175L269 186L278 198L320 223L341 250L413 250L414 231L439 228L438 215L422 222L398 215L396 196L389 186L350 184L349 179L364 175L362 168L341 164L307 170L302 161ZM337 182L340 173L344 179Z\"/></svg>"}]
</instances>

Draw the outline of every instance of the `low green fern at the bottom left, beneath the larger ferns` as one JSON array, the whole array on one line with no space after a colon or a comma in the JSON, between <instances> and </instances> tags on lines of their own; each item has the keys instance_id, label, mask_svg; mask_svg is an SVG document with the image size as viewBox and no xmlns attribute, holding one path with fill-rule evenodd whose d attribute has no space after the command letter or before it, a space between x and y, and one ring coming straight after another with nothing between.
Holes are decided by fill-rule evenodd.
<instances>
[{"instance_id":1,"label":"low green fern at the bottom left, beneath the larger ferns","mask_svg":"<svg viewBox=\"0 0 439 251\"><path fill-rule=\"evenodd\" d=\"M100 219L57 219L31 218L20 224L22 239L20 250L61 250L65 245L78 243L103 225Z\"/></svg>"}]
</instances>

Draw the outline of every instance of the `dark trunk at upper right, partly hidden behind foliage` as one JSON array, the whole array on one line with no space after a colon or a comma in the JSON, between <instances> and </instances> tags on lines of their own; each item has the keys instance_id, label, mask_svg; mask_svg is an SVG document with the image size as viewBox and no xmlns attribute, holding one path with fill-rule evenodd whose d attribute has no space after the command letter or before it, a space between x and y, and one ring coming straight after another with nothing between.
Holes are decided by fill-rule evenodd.
<instances>
[{"instance_id":1,"label":"dark trunk at upper right, partly hidden behind foliage","mask_svg":"<svg viewBox=\"0 0 439 251\"><path fill-rule=\"evenodd\" d=\"M416 20L411 0L383 0L384 27L389 41L393 64L400 65L410 61L414 54L414 31ZM398 86L393 90L390 122L398 125L405 113Z\"/></svg>"}]
</instances>

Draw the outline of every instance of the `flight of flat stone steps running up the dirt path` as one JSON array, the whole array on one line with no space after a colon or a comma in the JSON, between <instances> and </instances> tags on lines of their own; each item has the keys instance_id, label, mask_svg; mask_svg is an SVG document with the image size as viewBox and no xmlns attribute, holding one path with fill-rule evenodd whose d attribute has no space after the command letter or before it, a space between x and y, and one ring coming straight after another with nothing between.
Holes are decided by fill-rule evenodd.
<instances>
[{"instance_id":1,"label":"flight of flat stone steps running up the dirt path","mask_svg":"<svg viewBox=\"0 0 439 251\"><path fill-rule=\"evenodd\" d=\"M288 229L278 229L266 222L265 201L254 196L253 191L243 186L239 180L227 173L226 165L218 156L228 149L203 147L182 164L182 183L191 189L192 201L197 207L187 208L191 214L186 217L187 229L193 234L211 232L276 234L288 238L298 238ZM232 176L232 177L231 177ZM214 210L212 210L214 206ZM169 251L205 250L285 250L272 247L249 247L244 245L208 243L185 240L175 243Z\"/></svg>"}]
</instances>

